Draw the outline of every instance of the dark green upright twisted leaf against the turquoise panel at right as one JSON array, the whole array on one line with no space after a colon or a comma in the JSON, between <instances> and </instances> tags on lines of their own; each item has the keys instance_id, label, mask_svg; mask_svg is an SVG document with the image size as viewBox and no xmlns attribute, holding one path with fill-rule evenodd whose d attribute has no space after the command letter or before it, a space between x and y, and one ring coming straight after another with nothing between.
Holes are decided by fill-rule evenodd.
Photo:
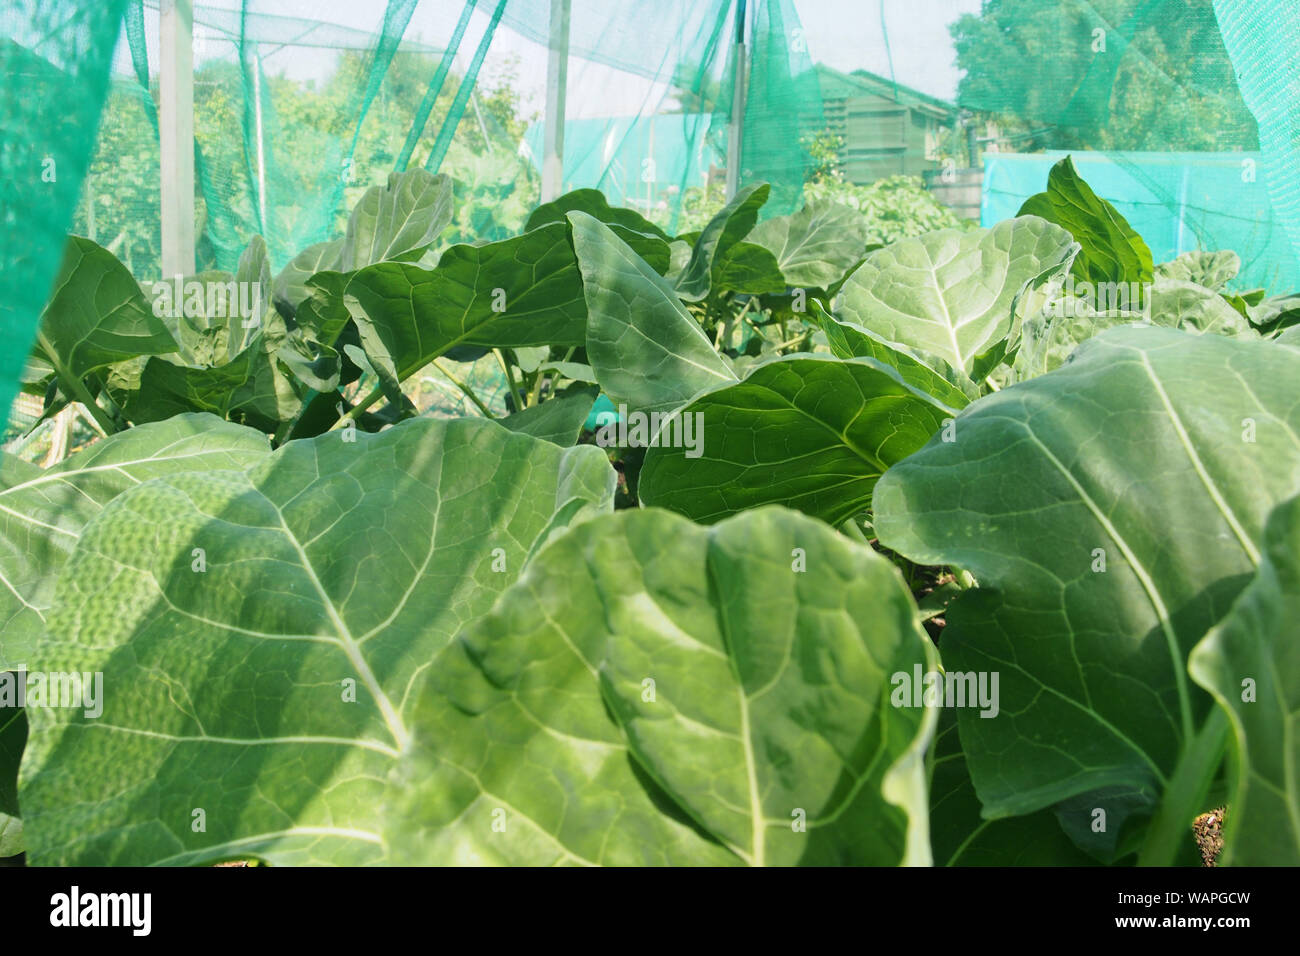
<instances>
[{"instance_id":1,"label":"dark green upright twisted leaf against the turquoise panel at right","mask_svg":"<svg viewBox=\"0 0 1300 956\"><path fill-rule=\"evenodd\" d=\"M1119 211L1092 191L1066 156L1048 173L1048 189L1024 200L1018 216L1065 226L1082 246L1071 271L1087 282L1150 282L1150 250Z\"/></svg>"}]
</instances>

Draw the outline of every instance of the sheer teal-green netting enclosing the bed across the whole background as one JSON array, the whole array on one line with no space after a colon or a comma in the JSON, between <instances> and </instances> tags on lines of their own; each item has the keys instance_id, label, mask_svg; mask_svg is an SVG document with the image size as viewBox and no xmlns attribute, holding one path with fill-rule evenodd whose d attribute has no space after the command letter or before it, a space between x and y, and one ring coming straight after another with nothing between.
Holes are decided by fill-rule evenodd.
<instances>
[{"instance_id":1,"label":"sheer teal-green netting enclosing the bed across the whole background","mask_svg":"<svg viewBox=\"0 0 1300 956\"><path fill-rule=\"evenodd\" d=\"M338 235L365 189L416 165L454 178L446 242L517 233L541 196L554 3L195 5L195 268L233 269L259 234L283 265ZM741 185L772 182L764 216L824 196L866 211L884 241L1006 215L1019 191L1041 187L1005 174L1037 176L1037 160L1009 155L1095 152L1123 172L1100 191L1149 224L1157 251L1230 247L1248 264L1242 282L1283 293L1300 281L1292 4L568 5L562 189L601 189L670 232L707 221L737 163ZM161 272L160 14L157 0L9 0L4 10L10 382L69 225L142 281ZM56 182L39 177L47 155ZM936 213L936 198L950 215Z\"/></svg>"}]
</instances>

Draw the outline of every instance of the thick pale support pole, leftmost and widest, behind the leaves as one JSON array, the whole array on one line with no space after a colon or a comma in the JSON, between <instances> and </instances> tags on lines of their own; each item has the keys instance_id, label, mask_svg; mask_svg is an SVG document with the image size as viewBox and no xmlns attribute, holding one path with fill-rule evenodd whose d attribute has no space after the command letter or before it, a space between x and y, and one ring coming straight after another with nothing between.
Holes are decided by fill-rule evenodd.
<instances>
[{"instance_id":1,"label":"thick pale support pole, leftmost and widest, behind the leaves","mask_svg":"<svg viewBox=\"0 0 1300 956\"><path fill-rule=\"evenodd\" d=\"M194 9L161 0L159 148L162 274L194 272Z\"/></svg>"}]
</instances>

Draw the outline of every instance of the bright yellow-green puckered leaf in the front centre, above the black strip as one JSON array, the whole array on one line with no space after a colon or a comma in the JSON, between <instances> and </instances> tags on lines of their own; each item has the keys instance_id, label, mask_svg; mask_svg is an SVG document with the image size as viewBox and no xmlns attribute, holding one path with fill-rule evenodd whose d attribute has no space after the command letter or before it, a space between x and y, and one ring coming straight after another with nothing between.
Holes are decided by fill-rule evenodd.
<instances>
[{"instance_id":1,"label":"bright yellow-green puckered leaf in the front centre, above the black strip","mask_svg":"<svg viewBox=\"0 0 1300 956\"><path fill-rule=\"evenodd\" d=\"M797 514L633 510L436 658L389 844L417 864L924 864L932 667L888 561Z\"/></svg>"}]
</instances>

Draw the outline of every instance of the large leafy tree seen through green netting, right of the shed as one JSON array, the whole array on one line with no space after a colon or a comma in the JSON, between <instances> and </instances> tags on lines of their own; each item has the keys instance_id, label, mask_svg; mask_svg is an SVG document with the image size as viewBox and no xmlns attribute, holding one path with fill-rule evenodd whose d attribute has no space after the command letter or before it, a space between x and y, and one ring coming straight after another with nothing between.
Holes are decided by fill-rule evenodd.
<instances>
[{"instance_id":1,"label":"large leafy tree seen through green netting, right of the shed","mask_svg":"<svg viewBox=\"0 0 1300 956\"><path fill-rule=\"evenodd\" d=\"M958 101L1031 150L1254 150L1213 0L984 0Z\"/></svg>"}]
</instances>

